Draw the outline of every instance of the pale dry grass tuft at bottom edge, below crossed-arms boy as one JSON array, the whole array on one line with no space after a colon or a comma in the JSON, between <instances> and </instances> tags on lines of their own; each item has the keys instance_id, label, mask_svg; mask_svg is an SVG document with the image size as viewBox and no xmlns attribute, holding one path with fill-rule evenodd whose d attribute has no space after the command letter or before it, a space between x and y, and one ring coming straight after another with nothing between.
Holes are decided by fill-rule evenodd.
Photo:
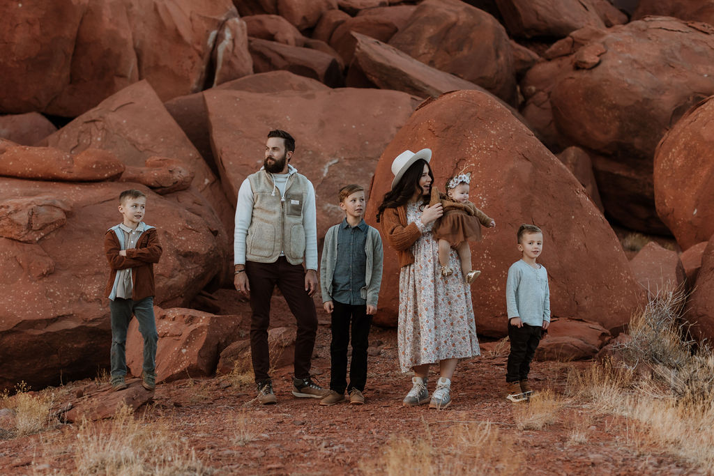
<instances>
[{"instance_id":1,"label":"pale dry grass tuft at bottom edge, below crossed-arms boy","mask_svg":"<svg viewBox=\"0 0 714 476\"><path fill-rule=\"evenodd\" d=\"M74 462L79 475L210 475L193 450L161 422L135 419L122 406L111 422L84 420L77 432Z\"/></svg>"}]
</instances>

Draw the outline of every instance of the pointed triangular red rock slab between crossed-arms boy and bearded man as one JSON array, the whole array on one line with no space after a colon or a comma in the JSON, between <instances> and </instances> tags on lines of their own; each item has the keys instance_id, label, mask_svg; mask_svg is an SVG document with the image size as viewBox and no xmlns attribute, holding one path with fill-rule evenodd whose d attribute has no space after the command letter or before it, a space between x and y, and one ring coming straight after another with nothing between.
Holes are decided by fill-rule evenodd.
<instances>
[{"instance_id":1,"label":"pointed triangular red rock slab between crossed-arms boy and bearded man","mask_svg":"<svg viewBox=\"0 0 714 476\"><path fill-rule=\"evenodd\" d=\"M151 156L171 157L183 162L193 174L193 186L221 218L223 226L216 224L218 236L227 249L228 236L233 230L233 206L226 201L216 176L147 81L139 81L106 98L43 143L72 154L87 148L104 149L113 152L127 166L134 167L144 167ZM205 213L206 216L213 215Z\"/></svg>"}]
</instances>

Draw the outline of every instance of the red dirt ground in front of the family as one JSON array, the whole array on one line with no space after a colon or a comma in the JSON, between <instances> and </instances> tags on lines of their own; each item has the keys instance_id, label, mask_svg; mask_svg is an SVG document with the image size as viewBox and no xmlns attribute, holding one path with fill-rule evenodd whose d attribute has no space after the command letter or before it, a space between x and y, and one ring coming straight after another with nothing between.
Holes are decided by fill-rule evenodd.
<instances>
[{"instance_id":1,"label":"red dirt ground in front of the family","mask_svg":"<svg viewBox=\"0 0 714 476\"><path fill-rule=\"evenodd\" d=\"M280 299L281 300L281 299ZM234 303L238 304L238 303ZM276 313L283 313L276 306ZM321 310L321 309L320 309ZM329 383L328 317L319 313L313 370L321 385ZM288 320L289 322L289 320ZM496 343L482 346L483 356L459 364L453 378L453 404L446 410L403 407L401 400L411 387L411 375L401 374L396 356L396 330L373 328L371 336L366 405L341 404L321 407L318 400L291 395L291 368L273 375L277 405L261 406L251 400L252 384L231 385L226 376L178 380L160 384L154 403L144 412L149 424L162 420L176 438L196 451L213 474L361 474L365 467L381 472L384 453L394 437L426 439L437 447L434 472L448 474L451 465L467 457L451 445L458 424L492 422L500 439L515 442L503 446L521 458L517 472L533 475L676 475L697 474L685 462L658 448L634 447L631 429L620 417L603 416L567 397L556 421L543 430L518 430L514 404L503 397L505 355L493 355ZM572 364L572 365L584 365ZM535 388L565 391L570 364L534 363ZM436 374L430 379L433 390ZM71 389L86 384L70 383ZM58 390L59 391L59 390ZM521 404L523 405L523 404ZM141 409L139 412L141 414ZM255 438L244 445L235 442L237 418L247 422ZM573 428L585 433L585 442L570 440ZM71 473L77 425L28 437L0 440L0 468L4 475ZM508 455L506 455L508 460ZM437 464L448 464L440 468ZM371 466L370 466L371 465ZM418 469L418 468L417 468ZM404 472L414 469L404 468ZM401 472L401 471L400 471ZM471 472L461 470L460 472ZM501 472L493 468L493 472Z\"/></svg>"}]
</instances>

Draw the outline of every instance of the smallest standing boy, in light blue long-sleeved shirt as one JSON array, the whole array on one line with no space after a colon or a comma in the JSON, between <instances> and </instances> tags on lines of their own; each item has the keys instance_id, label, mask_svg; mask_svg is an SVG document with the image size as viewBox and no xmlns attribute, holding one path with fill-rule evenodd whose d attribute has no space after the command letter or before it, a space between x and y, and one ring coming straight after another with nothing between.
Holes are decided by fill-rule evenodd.
<instances>
[{"instance_id":1,"label":"smallest standing boy, in light blue long-sleeved shirt","mask_svg":"<svg viewBox=\"0 0 714 476\"><path fill-rule=\"evenodd\" d=\"M508 400L521 402L533 393L528 385L531 360L550 325L550 290L548 272L535 262L543 252L543 231L535 225L518 228L518 250L521 259L508 268L506 305L508 306L508 339L511 353L506 366Z\"/></svg>"}]
</instances>

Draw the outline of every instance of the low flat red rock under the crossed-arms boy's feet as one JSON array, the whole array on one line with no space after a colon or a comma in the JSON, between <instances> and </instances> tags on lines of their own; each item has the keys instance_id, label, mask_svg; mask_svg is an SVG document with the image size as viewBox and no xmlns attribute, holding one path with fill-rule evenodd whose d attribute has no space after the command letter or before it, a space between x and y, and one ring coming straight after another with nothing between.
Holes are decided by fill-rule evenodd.
<instances>
[{"instance_id":1,"label":"low flat red rock under the crossed-arms boy's feet","mask_svg":"<svg viewBox=\"0 0 714 476\"><path fill-rule=\"evenodd\" d=\"M88 385L83 395L70 402L68 411L61 414L61 419L67 423L87 420L105 420L116 416L121 407L129 407L132 411L154 400L154 392L141 386L141 380L127 382L129 388L115 392L111 385Z\"/></svg>"}]
</instances>

